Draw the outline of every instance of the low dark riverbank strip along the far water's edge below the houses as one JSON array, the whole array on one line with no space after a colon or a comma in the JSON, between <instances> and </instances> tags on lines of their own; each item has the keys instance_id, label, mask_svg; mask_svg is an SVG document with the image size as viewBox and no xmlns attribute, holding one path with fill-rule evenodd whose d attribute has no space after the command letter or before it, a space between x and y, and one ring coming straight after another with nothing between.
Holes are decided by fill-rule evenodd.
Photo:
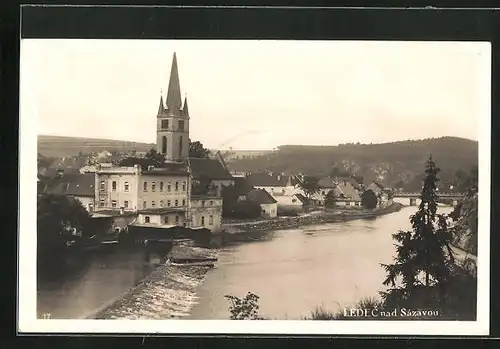
<instances>
[{"instance_id":1,"label":"low dark riverbank strip along the far water's edge below the houses","mask_svg":"<svg viewBox=\"0 0 500 349\"><path fill-rule=\"evenodd\" d=\"M400 211L404 206L393 203L390 206L373 210L349 209L320 211L295 217L277 217L274 219L222 224L225 242L256 240L265 236L269 230L298 228L304 225L345 222L354 219L375 218Z\"/></svg>"}]
</instances>

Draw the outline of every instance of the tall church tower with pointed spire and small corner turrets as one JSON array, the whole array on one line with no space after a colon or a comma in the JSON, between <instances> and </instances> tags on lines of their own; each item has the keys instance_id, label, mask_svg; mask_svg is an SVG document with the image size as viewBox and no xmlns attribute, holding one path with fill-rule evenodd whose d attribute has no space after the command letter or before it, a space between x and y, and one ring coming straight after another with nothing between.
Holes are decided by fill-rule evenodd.
<instances>
[{"instance_id":1,"label":"tall church tower with pointed spire and small corner turrets","mask_svg":"<svg viewBox=\"0 0 500 349\"><path fill-rule=\"evenodd\" d=\"M156 151L166 161L186 161L189 154L189 112L187 97L181 98L177 56L174 52L166 105L160 96L156 123Z\"/></svg>"}]
</instances>

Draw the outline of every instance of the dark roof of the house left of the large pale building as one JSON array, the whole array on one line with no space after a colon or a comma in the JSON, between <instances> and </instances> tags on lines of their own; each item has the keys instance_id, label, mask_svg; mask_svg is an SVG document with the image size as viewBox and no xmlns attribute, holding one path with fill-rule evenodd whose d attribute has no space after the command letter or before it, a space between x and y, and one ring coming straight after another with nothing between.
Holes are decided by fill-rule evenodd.
<instances>
[{"instance_id":1,"label":"dark roof of the house left of the large pale building","mask_svg":"<svg viewBox=\"0 0 500 349\"><path fill-rule=\"evenodd\" d=\"M93 173L64 174L61 178L52 178L44 181L42 192L46 194L60 194L73 196L94 197L95 175Z\"/></svg>"}]
</instances>

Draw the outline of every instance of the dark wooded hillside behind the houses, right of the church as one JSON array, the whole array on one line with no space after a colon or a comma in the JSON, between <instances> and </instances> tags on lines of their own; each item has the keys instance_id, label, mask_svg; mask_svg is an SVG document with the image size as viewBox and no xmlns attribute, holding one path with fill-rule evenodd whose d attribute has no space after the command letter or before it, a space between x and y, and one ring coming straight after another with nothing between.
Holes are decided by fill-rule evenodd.
<instances>
[{"instance_id":1,"label":"dark wooded hillside behind the houses, right of the church","mask_svg":"<svg viewBox=\"0 0 500 349\"><path fill-rule=\"evenodd\" d=\"M429 154L442 170L442 184L447 185L458 169L469 171L477 166L478 143L443 137L383 144L284 145L275 152L233 160L228 165L238 172L268 170L317 176L328 175L337 167L363 176L365 182L378 180L386 186L419 190Z\"/></svg>"}]
</instances>

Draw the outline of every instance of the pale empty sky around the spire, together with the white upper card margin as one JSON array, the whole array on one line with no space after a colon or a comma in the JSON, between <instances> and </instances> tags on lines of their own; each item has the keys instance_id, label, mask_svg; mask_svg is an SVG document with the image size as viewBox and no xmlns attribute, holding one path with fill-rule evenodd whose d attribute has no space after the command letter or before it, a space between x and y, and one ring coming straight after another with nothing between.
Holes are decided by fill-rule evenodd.
<instances>
[{"instance_id":1,"label":"pale empty sky around the spire, together with the white upper card margin","mask_svg":"<svg viewBox=\"0 0 500 349\"><path fill-rule=\"evenodd\" d=\"M485 43L36 39L21 113L34 104L38 134L154 143L174 52L190 138L211 149L478 140L490 93Z\"/></svg>"}]
</instances>

